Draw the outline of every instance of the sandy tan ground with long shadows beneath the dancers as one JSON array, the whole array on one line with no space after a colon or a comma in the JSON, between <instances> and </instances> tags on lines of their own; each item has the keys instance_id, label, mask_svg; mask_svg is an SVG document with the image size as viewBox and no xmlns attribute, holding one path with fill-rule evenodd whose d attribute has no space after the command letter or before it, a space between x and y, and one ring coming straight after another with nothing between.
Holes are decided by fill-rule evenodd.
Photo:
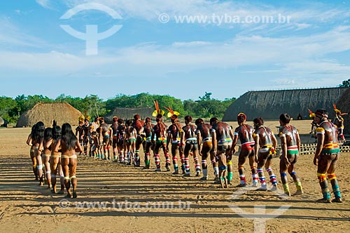
<instances>
[{"instance_id":1,"label":"sandy tan ground with long shadows beneath the dancers","mask_svg":"<svg viewBox=\"0 0 350 233\"><path fill-rule=\"evenodd\" d=\"M308 133L309 121L293 124ZM350 153L342 154L336 172L343 204L314 202L321 189L312 155L300 157L296 168L304 194L289 198L235 187L237 171L234 185L221 189L212 181L212 168L209 180L201 182L80 156L78 199L66 200L34 180L28 134L29 128L0 128L0 232L349 232ZM278 163L274 159L272 166L277 173ZM162 170L164 164L162 157Z\"/></svg>"}]
</instances>

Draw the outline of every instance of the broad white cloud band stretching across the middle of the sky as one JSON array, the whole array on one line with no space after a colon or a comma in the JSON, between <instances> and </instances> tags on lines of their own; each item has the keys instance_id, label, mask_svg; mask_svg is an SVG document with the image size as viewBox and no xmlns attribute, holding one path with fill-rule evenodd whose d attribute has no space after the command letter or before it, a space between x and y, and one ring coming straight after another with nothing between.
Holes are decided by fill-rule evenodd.
<instances>
[{"instance_id":1,"label":"broad white cloud band stretching across the middle of the sky","mask_svg":"<svg viewBox=\"0 0 350 233\"><path fill-rule=\"evenodd\" d=\"M159 74L186 73L205 69L241 69L255 66L272 75L285 77L321 76L342 79L350 72L349 65L329 60L328 55L350 51L350 27L337 27L313 36L269 38L237 36L231 41L175 42L169 46L139 44L111 50L102 48L98 56L69 53L0 52L1 69L20 69L31 72L64 71L85 74ZM137 69L135 69L137 67ZM254 69L253 69L254 70ZM255 76L261 76L259 72ZM295 85L298 85L297 83Z\"/></svg>"}]
</instances>

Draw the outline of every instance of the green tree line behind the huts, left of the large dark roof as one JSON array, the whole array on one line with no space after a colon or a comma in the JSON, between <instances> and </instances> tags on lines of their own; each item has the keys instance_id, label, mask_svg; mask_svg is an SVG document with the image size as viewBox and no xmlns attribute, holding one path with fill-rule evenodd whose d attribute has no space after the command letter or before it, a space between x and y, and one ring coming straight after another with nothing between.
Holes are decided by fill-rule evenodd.
<instances>
[{"instance_id":1,"label":"green tree line behind the huts, left of the large dark roof","mask_svg":"<svg viewBox=\"0 0 350 233\"><path fill-rule=\"evenodd\" d=\"M169 95L151 95L139 93L137 95L118 94L109 100L102 100L98 95L86 95L85 98L61 94L55 99L43 95L18 95L16 98L0 97L0 116L15 124L20 115L31 109L37 103L67 102L80 112L87 112L89 116L104 116L116 107L152 107L153 100L158 100L161 107L172 107L182 116L187 114L193 117L211 118L223 117L228 106L236 98L217 100L211 98L212 93L205 92L198 100L180 100ZM165 109L164 109L165 110ZM167 112L167 110L165 110Z\"/></svg>"}]
</instances>

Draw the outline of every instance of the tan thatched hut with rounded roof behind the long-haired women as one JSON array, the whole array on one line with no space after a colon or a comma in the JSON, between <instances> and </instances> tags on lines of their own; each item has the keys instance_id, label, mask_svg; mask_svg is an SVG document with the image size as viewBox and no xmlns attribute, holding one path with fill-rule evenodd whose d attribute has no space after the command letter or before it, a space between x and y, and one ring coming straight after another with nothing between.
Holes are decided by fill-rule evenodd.
<instances>
[{"instance_id":1,"label":"tan thatched hut with rounded roof behind the long-haired women","mask_svg":"<svg viewBox=\"0 0 350 233\"><path fill-rule=\"evenodd\" d=\"M20 116L16 127L31 127L38 121L43 121L45 126L51 126L53 120L59 125L64 123L77 125L78 118L82 115L66 102L38 103Z\"/></svg>"}]
</instances>

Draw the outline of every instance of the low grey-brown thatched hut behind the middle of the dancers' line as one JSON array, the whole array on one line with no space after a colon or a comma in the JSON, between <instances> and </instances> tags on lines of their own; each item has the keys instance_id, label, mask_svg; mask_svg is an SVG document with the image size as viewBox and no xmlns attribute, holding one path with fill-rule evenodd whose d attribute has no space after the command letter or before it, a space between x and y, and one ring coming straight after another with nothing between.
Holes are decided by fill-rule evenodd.
<instances>
[{"instance_id":1,"label":"low grey-brown thatched hut behind the middle of the dancers' line","mask_svg":"<svg viewBox=\"0 0 350 233\"><path fill-rule=\"evenodd\" d=\"M104 116L104 120L108 124L112 124L113 116L118 116L121 119L132 119L135 114L139 114L141 119L146 117L152 117L154 109L151 107L139 107L139 108L129 108L129 107L116 107L113 111L109 112Z\"/></svg>"}]
</instances>

